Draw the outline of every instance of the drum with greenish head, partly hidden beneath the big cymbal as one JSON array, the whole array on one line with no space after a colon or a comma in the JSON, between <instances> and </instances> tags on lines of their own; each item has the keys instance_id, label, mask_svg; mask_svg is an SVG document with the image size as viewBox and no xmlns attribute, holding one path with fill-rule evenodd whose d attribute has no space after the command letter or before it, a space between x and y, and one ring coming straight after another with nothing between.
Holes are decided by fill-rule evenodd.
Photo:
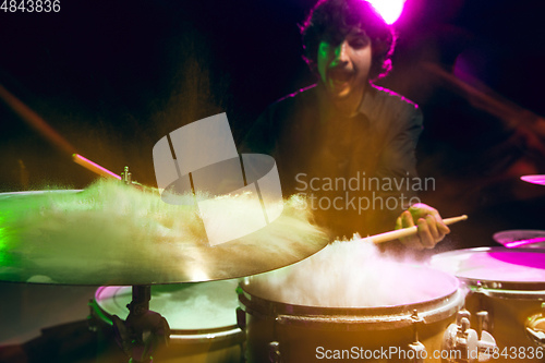
<instances>
[{"instance_id":1,"label":"drum with greenish head, partly hidden beneath the big cymbal","mask_svg":"<svg viewBox=\"0 0 545 363\"><path fill-rule=\"evenodd\" d=\"M170 325L170 344L154 358L161 362L240 362L244 332L237 326L237 280L152 286L149 310ZM92 314L111 328L111 316L125 319L131 287L101 287Z\"/></svg>"}]
</instances>

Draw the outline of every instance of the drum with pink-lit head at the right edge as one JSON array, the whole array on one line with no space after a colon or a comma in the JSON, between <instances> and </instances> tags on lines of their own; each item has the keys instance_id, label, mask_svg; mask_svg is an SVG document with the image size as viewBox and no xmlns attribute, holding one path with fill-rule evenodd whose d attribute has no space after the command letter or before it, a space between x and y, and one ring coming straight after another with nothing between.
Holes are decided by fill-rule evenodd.
<instances>
[{"instance_id":1,"label":"drum with pink-lit head at the right edge","mask_svg":"<svg viewBox=\"0 0 545 363\"><path fill-rule=\"evenodd\" d=\"M494 336L498 362L544 361L545 350L534 339L540 332L529 324L541 316L545 301L545 251L460 250L433 256L432 266L456 275L471 289L465 307L472 316L483 316L472 318L472 326Z\"/></svg>"}]
</instances>

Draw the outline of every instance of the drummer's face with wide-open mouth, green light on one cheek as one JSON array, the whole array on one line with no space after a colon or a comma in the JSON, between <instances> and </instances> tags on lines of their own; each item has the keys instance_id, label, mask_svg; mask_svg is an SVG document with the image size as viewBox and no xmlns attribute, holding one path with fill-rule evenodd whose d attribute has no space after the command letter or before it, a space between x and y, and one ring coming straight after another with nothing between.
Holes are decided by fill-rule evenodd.
<instances>
[{"instance_id":1,"label":"drummer's face with wide-open mouth, green light on one cheek","mask_svg":"<svg viewBox=\"0 0 545 363\"><path fill-rule=\"evenodd\" d=\"M343 99L363 93L371 59L371 40L361 29L352 29L339 44L323 40L318 47L318 73L329 95Z\"/></svg>"}]
</instances>

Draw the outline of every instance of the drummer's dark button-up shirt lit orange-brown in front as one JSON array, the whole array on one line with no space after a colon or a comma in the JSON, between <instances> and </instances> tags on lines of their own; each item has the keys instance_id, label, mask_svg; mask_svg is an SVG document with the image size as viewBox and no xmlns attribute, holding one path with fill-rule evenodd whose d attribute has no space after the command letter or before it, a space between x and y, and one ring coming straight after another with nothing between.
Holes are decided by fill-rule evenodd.
<instances>
[{"instance_id":1,"label":"drummer's dark button-up shirt lit orange-brown in front","mask_svg":"<svg viewBox=\"0 0 545 363\"><path fill-rule=\"evenodd\" d=\"M419 107L400 95L371 85L359 112L347 118L318 85L269 106L243 152L271 155L283 196L305 194L332 238L350 238L392 229L416 195L421 132Z\"/></svg>"}]
</instances>

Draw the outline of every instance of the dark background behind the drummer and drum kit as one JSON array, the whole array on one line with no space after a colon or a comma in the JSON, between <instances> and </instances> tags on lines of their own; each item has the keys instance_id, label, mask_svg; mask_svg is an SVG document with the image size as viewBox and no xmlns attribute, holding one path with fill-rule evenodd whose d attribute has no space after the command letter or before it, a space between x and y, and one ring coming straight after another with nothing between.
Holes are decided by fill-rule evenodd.
<instances>
[{"instance_id":1,"label":"dark background behind the drummer and drum kit","mask_svg":"<svg viewBox=\"0 0 545 363\"><path fill-rule=\"evenodd\" d=\"M61 0L58 13L0 11L0 84L78 154L155 185L152 148L170 131L227 112L240 141L268 104L314 82L296 25L314 2ZM545 173L544 11L530 0L408 0L396 24L395 70L379 84L424 112L419 169L436 189L423 198L443 216L470 215L444 249L543 228L545 186L519 177ZM0 192L96 179L2 101L0 170Z\"/></svg>"}]
</instances>

